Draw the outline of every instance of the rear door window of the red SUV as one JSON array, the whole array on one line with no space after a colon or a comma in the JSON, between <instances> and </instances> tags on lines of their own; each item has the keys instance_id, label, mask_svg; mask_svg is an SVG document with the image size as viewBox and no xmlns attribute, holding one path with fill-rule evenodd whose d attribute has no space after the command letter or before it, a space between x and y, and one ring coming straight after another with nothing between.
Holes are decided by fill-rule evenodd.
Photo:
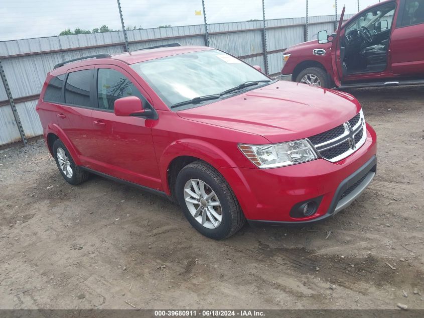
<instances>
[{"instance_id":1,"label":"rear door window of the red SUV","mask_svg":"<svg viewBox=\"0 0 424 318\"><path fill-rule=\"evenodd\" d=\"M93 101L90 98L93 75L93 69L69 73L65 85L65 103L93 107Z\"/></svg>"}]
</instances>

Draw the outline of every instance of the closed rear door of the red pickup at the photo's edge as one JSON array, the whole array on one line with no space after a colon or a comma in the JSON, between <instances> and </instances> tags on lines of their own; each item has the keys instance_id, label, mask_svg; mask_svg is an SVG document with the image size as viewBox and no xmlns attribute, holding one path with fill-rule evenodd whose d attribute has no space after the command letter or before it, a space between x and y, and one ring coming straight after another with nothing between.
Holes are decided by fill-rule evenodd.
<instances>
[{"instance_id":1,"label":"closed rear door of the red pickup at the photo's edge","mask_svg":"<svg viewBox=\"0 0 424 318\"><path fill-rule=\"evenodd\" d=\"M402 0L390 37L395 76L424 76L424 0Z\"/></svg>"}]
</instances>

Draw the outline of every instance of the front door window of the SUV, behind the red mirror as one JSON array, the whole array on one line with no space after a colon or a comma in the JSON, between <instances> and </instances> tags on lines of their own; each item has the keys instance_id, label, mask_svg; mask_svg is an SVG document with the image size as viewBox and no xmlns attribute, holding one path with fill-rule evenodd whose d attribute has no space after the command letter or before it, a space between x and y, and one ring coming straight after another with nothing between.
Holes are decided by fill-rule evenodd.
<instances>
[{"instance_id":1,"label":"front door window of the SUV, behind the red mirror","mask_svg":"<svg viewBox=\"0 0 424 318\"><path fill-rule=\"evenodd\" d=\"M125 75L110 68L98 70L97 98L99 109L113 111L115 100L127 96L137 96L142 100L143 107L150 108L146 98Z\"/></svg>"}]
</instances>

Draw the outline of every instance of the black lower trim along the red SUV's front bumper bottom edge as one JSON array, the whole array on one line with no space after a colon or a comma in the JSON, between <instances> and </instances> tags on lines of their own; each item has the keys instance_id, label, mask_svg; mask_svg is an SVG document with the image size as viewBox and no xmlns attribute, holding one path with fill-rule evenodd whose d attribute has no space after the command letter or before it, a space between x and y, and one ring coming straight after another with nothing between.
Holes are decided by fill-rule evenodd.
<instances>
[{"instance_id":1,"label":"black lower trim along the red SUV's front bumper bottom edge","mask_svg":"<svg viewBox=\"0 0 424 318\"><path fill-rule=\"evenodd\" d=\"M377 170L377 156L372 156L362 167L352 173L349 177L344 179L339 186L337 187L336 192L334 193L333 200L331 201L330 207L327 210L327 213L316 219L307 220L307 221L262 221L262 220L247 220L251 226L285 226L285 225L305 225L312 224L319 221L323 221L335 215L334 211L336 209L337 203L341 194L346 191L352 184L361 179L363 176L368 174L370 171L376 172Z\"/></svg>"}]
</instances>

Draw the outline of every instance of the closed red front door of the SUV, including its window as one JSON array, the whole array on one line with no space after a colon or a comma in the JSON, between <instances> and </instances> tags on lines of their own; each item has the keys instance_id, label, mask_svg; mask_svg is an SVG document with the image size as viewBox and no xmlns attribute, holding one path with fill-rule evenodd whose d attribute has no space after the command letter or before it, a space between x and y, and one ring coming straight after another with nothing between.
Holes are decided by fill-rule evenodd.
<instances>
[{"instance_id":1,"label":"closed red front door of the SUV, including its window","mask_svg":"<svg viewBox=\"0 0 424 318\"><path fill-rule=\"evenodd\" d=\"M116 178L162 190L151 125L154 120L118 117L113 113L116 99L137 96L144 108L152 108L150 97L123 69L100 65L95 69L96 102L93 121L97 122L97 144L101 172ZM152 108L153 109L153 108Z\"/></svg>"}]
</instances>

